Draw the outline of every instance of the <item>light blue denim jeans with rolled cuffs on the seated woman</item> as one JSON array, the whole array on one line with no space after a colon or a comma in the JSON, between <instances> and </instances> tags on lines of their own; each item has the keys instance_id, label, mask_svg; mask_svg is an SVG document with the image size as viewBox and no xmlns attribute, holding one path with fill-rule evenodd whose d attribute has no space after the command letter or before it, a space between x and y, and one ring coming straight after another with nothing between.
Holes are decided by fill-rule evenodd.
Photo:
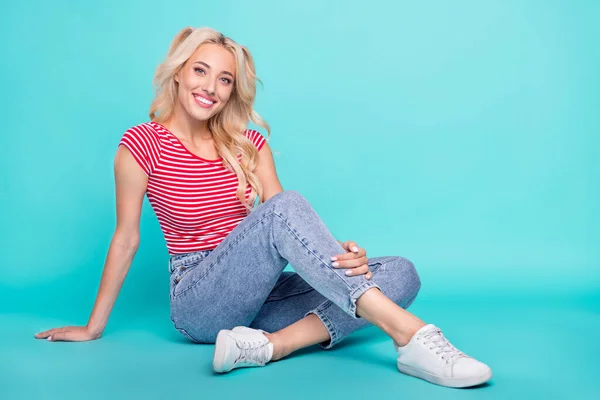
<instances>
[{"instance_id":1,"label":"light blue denim jeans with rolled cuffs on the seated woman","mask_svg":"<svg viewBox=\"0 0 600 400\"><path fill-rule=\"evenodd\" d=\"M356 300L378 288L408 307L421 282L402 257L369 258L371 280L346 276L330 257L345 250L313 207L284 191L255 208L214 249L178 254L169 261L171 320L186 338L214 343L237 325L278 331L315 314L329 331L330 348L368 325ZM296 272L284 272L288 262Z\"/></svg>"}]
</instances>

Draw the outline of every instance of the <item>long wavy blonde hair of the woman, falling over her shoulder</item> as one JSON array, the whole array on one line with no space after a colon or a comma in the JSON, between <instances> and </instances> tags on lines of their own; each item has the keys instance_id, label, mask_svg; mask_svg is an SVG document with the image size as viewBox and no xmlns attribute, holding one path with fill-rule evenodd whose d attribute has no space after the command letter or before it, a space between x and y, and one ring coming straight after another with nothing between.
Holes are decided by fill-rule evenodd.
<instances>
[{"instance_id":1,"label":"long wavy blonde hair of the woman, falling over her shoulder","mask_svg":"<svg viewBox=\"0 0 600 400\"><path fill-rule=\"evenodd\" d=\"M253 121L267 130L269 125L254 111L257 78L254 61L250 52L230 38L211 28L184 28L173 39L166 59L156 68L154 87L156 95L150 105L150 119L165 123L172 116L177 101L178 83L175 75L181 70L196 49L205 43L218 44L229 50L235 57L236 76L234 87L225 107L208 121L215 147L223 158L223 165L234 172L238 178L237 198L250 210L258 196L259 203L263 190L258 177L254 174L258 162L258 151L246 138L244 131L249 121ZM240 154L241 162L237 154ZM246 187L252 191L248 201L245 199Z\"/></svg>"}]
</instances>

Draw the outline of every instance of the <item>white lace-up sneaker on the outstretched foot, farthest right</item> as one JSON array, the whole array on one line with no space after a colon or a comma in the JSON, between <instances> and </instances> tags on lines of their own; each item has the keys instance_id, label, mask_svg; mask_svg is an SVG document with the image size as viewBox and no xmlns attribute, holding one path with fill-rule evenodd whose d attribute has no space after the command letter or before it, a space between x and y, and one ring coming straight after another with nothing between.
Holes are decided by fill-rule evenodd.
<instances>
[{"instance_id":1,"label":"white lace-up sneaker on the outstretched foot, farthest right","mask_svg":"<svg viewBox=\"0 0 600 400\"><path fill-rule=\"evenodd\" d=\"M441 386L479 385L492 377L490 367L454 347L440 328L425 325L406 346L394 343L400 372Z\"/></svg>"}]
</instances>

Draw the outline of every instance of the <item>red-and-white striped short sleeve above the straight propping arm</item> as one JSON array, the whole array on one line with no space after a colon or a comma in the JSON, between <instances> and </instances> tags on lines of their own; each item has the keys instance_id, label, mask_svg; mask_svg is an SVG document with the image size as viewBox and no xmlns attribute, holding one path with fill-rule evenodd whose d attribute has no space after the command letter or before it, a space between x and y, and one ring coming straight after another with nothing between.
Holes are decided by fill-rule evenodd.
<instances>
[{"instance_id":1,"label":"red-and-white striped short sleeve above the straight propping arm","mask_svg":"<svg viewBox=\"0 0 600 400\"><path fill-rule=\"evenodd\" d=\"M160 141L151 126L142 124L128 129L119 142L133 155L147 176L152 174L160 157Z\"/></svg>"}]
</instances>

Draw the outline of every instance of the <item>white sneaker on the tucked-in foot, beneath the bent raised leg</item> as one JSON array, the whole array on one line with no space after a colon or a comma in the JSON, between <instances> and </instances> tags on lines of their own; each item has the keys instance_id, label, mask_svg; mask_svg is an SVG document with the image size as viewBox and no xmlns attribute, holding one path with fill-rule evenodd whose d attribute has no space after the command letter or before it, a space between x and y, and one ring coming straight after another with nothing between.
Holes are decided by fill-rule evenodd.
<instances>
[{"instance_id":1,"label":"white sneaker on the tucked-in foot, beneath the bent raised leg","mask_svg":"<svg viewBox=\"0 0 600 400\"><path fill-rule=\"evenodd\" d=\"M234 368L263 367L273 357L273 344L265 331L236 326L217 335L213 370L223 373Z\"/></svg>"}]
</instances>

